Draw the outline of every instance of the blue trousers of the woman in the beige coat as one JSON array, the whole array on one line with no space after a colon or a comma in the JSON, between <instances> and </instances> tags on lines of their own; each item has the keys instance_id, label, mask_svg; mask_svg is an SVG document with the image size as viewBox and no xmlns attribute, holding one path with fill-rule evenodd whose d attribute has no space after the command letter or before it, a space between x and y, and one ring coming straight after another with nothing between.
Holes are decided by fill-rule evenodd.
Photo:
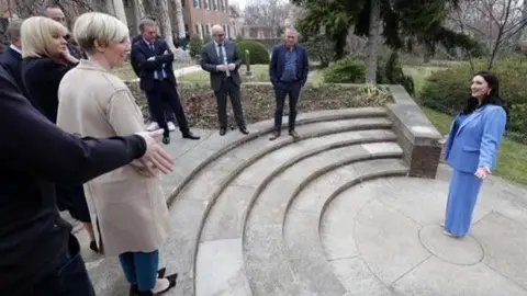
<instances>
[{"instance_id":1,"label":"blue trousers of the woman in the beige coat","mask_svg":"<svg viewBox=\"0 0 527 296\"><path fill-rule=\"evenodd\" d=\"M137 284L139 291L153 289L157 281L159 251L149 253L126 252L119 255L124 276L130 284Z\"/></svg>"}]
</instances>

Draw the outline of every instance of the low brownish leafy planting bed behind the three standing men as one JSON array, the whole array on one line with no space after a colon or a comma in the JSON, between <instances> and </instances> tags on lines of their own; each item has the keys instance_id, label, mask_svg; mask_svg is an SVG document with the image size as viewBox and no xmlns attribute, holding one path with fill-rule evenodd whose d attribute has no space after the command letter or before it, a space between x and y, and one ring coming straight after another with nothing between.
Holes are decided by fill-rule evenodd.
<instances>
[{"instance_id":1,"label":"low brownish leafy planting bed behind the three standing men","mask_svg":"<svg viewBox=\"0 0 527 296\"><path fill-rule=\"evenodd\" d=\"M148 118L148 107L145 95L138 88L138 82L126 82L134 93L145 118ZM217 128L216 99L208 84L179 83L178 91L191 126L201 128ZM388 89L371 92L359 84L323 84L307 83L302 90L299 113L315 110L334 110L347 107L383 106L393 102ZM242 105L247 124L272 118L274 115L274 89L269 82L246 82L242 84ZM288 113L285 103L284 114ZM232 114L232 107L227 106ZM234 123L229 115L229 123Z\"/></svg>"}]
</instances>

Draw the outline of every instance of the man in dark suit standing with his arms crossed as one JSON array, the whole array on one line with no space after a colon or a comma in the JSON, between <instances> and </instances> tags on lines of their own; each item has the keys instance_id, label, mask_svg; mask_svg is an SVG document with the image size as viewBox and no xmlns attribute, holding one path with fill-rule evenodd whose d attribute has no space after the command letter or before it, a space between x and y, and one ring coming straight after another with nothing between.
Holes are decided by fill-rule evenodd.
<instances>
[{"instance_id":1,"label":"man in dark suit standing with his arms crossed","mask_svg":"<svg viewBox=\"0 0 527 296\"><path fill-rule=\"evenodd\" d=\"M176 115L183 138L200 139L190 129L173 76L173 54L165 41L157 38L157 23L145 19L139 23L143 38L133 45L133 52L139 68L139 87L145 91L148 104L159 126L165 130L162 143L170 143L170 130L165 118L166 101Z\"/></svg>"}]
</instances>

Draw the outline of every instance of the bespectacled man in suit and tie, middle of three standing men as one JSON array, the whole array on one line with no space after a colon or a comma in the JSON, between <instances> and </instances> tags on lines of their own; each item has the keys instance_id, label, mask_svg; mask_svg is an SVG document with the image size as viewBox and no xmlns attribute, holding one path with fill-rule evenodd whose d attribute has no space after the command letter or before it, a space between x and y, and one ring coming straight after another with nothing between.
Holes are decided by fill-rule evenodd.
<instances>
[{"instance_id":1,"label":"bespectacled man in suit and tie, middle of three standing men","mask_svg":"<svg viewBox=\"0 0 527 296\"><path fill-rule=\"evenodd\" d=\"M236 44L225 41L223 26L212 26L214 42L203 47L201 54L201 68L211 73L211 88L214 90L217 101L217 118L220 121L220 135L227 132L227 95L231 96L234 117L239 132L249 134L244 121L239 86L242 78L238 68L242 59L238 57Z\"/></svg>"}]
</instances>

